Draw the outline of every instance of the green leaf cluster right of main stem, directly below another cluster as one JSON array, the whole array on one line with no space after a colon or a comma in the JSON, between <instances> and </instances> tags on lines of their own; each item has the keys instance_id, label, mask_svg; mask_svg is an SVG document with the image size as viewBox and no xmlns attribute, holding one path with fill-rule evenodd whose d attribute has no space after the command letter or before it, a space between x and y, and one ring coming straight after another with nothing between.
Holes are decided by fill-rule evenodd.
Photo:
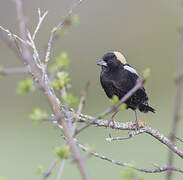
<instances>
[{"instance_id":1,"label":"green leaf cluster right of main stem, directly below another cluster","mask_svg":"<svg viewBox=\"0 0 183 180\"><path fill-rule=\"evenodd\" d=\"M51 82L51 85L56 90L60 90L60 88L65 88L69 81L69 74L65 71L62 71L57 73L57 78Z\"/></svg>"}]
</instances>

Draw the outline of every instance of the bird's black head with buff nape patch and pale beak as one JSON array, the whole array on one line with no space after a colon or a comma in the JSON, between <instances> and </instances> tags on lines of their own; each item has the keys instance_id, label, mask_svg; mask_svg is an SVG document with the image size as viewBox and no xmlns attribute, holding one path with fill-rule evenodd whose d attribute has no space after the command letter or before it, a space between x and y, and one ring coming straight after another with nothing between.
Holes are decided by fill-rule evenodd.
<instances>
[{"instance_id":1,"label":"bird's black head with buff nape patch and pale beak","mask_svg":"<svg viewBox=\"0 0 183 180\"><path fill-rule=\"evenodd\" d=\"M97 65L101 66L102 69L115 69L124 64L126 64L125 57L117 51L104 54L102 59L97 62Z\"/></svg>"}]
</instances>

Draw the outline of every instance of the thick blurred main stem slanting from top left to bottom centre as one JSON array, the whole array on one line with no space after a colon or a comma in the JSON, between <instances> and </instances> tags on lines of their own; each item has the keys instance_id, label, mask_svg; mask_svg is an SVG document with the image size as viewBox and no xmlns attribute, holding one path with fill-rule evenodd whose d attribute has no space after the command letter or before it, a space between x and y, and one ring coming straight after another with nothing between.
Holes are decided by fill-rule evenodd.
<instances>
[{"instance_id":1,"label":"thick blurred main stem slanting from top left to bottom centre","mask_svg":"<svg viewBox=\"0 0 183 180\"><path fill-rule=\"evenodd\" d=\"M26 27L25 27L22 1L15 0L15 4L16 4L16 9L17 9L17 14L18 14L21 38L25 42L27 42L27 35L26 35L27 31L26 31ZM45 95L47 95L48 100L51 104L51 107L52 107L52 109L53 109L53 111L58 119L58 123L60 125L62 125L62 127L63 127L63 129L62 129L63 133L68 139L68 145L70 147L70 150L72 152L74 160L77 163L77 166L81 172L82 178L84 180L89 180L89 176L88 176L88 173L86 171L86 166L85 166L82 158L80 157L77 146L75 145L75 143L72 139L71 132L67 126L67 123L64 120L63 114L61 114L60 101L56 97L53 88L47 82L47 79L42 78L40 72L38 71L37 66L36 66L35 62L33 61L31 53L28 49L27 43L23 44L23 58L26 61L26 63L30 65L31 73L32 73L32 76L33 76L35 82L38 82L41 85L41 87L42 87Z\"/></svg>"}]
</instances>

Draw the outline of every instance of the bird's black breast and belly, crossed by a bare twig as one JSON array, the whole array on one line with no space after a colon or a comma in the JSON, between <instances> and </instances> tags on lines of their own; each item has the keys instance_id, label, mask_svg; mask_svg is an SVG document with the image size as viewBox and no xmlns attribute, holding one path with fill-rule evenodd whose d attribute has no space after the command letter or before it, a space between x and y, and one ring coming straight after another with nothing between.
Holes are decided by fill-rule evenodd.
<instances>
[{"instance_id":1,"label":"bird's black breast and belly, crossed by a bare twig","mask_svg":"<svg viewBox=\"0 0 183 180\"><path fill-rule=\"evenodd\" d=\"M116 95L121 99L129 90L131 90L138 79L138 75L125 69L115 71L102 70L100 74L101 85L109 98ZM148 100L145 89L139 89L132 95L126 104L131 109L136 109L139 104Z\"/></svg>"}]
</instances>

